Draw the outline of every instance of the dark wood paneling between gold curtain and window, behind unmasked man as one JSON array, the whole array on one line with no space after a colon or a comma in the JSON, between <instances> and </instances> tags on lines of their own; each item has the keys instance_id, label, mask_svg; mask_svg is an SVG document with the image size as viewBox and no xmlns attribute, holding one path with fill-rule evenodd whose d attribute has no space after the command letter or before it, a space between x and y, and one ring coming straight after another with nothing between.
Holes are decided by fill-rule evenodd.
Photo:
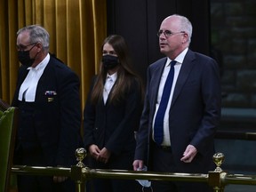
<instances>
[{"instance_id":1,"label":"dark wood paneling between gold curtain and window, behind unmasked man","mask_svg":"<svg viewBox=\"0 0 256 192\"><path fill-rule=\"evenodd\" d=\"M165 17L179 13L193 25L190 48L209 53L208 0L108 0L108 35L124 36L134 68L146 80L148 65L164 55L159 52L156 32ZM200 7L200 9L199 9Z\"/></svg>"}]
</instances>

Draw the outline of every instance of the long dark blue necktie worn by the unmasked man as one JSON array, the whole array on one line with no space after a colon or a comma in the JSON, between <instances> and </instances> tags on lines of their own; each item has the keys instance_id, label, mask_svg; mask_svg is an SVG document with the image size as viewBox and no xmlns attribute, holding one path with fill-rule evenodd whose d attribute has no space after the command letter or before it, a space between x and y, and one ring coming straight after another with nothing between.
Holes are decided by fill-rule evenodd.
<instances>
[{"instance_id":1,"label":"long dark blue necktie worn by the unmasked man","mask_svg":"<svg viewBox=\"0 0 256 192\"><path fill-rule=\"evenodd\" d=\"M176 60L171 61L171 68L164 84L164 91L160 101L159 108L156 112L155 124L154 124L154 140L157 145L161 145L164 139L164 114L170 98L172 90L172 82L174 76L174 65Z\"/></svg>"}]
</instances>

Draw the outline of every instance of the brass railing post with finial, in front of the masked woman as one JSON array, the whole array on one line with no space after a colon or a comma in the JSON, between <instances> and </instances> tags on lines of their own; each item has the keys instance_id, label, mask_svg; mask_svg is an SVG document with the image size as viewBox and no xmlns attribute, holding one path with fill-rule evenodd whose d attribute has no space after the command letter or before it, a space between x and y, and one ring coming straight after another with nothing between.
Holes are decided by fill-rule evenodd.
<instances>
[{"instance_id":1,"label":"brass railing post with finial, in front of the masked woman","mask_svg":"<svg viewBox=\"0 0 256 192\"><path fill-rule=\"evenodd\" d=\"M71 166L71 180L75 180L76 192L86 192L85 186L85 165L83 163L86 156L86 150L84 148L76 149L76 160L78 163Z\"/></svg>"}]
</instances>

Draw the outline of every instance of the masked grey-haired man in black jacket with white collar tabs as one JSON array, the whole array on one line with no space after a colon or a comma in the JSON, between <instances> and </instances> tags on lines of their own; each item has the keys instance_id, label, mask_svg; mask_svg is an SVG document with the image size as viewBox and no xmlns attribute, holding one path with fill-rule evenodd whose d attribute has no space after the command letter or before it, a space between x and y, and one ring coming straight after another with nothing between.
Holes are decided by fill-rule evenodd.
<instances>
[{"instance_id":1,"label":"masked grey-haired man in black jacket with white collar tabs","mask_svg":"<svg viewBox=\"0 0 256 192\"><path fill-rule=\"evenodd\" d=\"M49 34L36 25L17 33L20 63L12 106L19 108L15 164L76 164L81 143L79 78L49 54ZM19 192L75 191L66 177L19 176Z\"/></svg>"}]
</instances>

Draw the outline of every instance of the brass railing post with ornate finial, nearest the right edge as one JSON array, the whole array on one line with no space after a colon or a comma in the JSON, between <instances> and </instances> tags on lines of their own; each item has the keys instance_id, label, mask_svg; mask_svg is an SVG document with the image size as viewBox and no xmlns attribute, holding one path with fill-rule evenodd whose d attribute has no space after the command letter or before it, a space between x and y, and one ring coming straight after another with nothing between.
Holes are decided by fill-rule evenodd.
<instances>
[{"instance_id":1,"label":"brass railing post with ornate finial, nearest the right edge","mask_svg":"<svg viewBox=\"0 0 256 192\"><path fill-rule=\"evenodd\" d=\"M227 172L223 172L220 165L223 163L225 156L222 153L216 153L212 158L216 164L216 169L209 172L208 183L212 186L214 192L224 192L225 185L222 180L225 179Z\"/></svg>"}]
</instances>

